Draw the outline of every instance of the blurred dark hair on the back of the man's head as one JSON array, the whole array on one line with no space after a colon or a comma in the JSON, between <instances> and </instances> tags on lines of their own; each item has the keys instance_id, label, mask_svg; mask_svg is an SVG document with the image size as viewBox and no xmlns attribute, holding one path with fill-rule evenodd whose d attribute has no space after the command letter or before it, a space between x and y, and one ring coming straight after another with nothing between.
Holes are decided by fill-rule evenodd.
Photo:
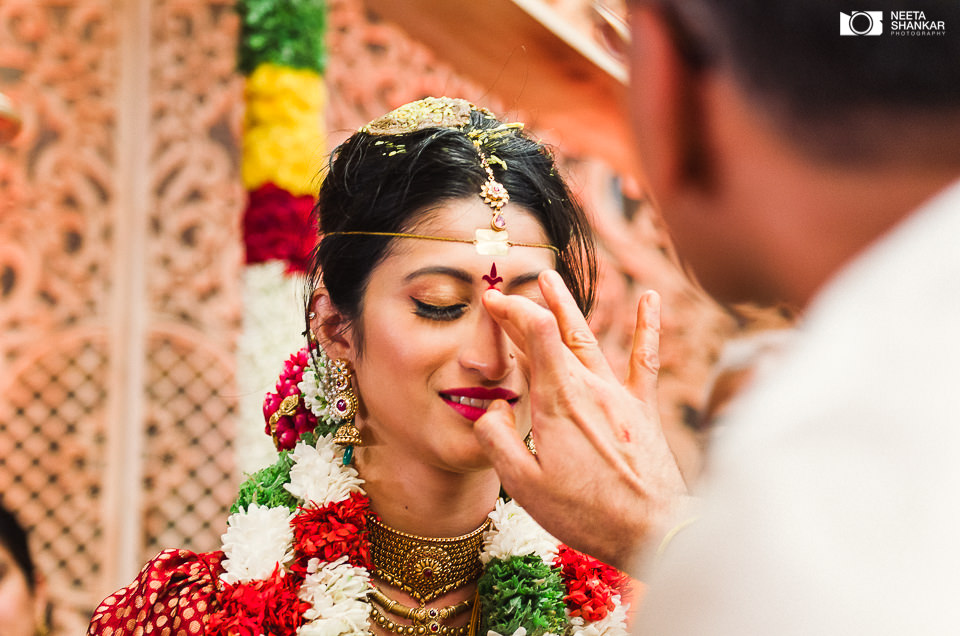
<instances>
[{"instance_id":1,"label":"blurred dark hair on the back of the man's head","mask_svg":"<svg viewBox=\"0 0 960 636\"><path fill-rule=\"evenodd\" d=\"M659 7L690 68L728 68L798 147L839 160L960 160L957 0L872 0L872 16L854 16L864 4L849 0L635 4ZM905 28L918 21L895 14L905 9L944 29ZM840 34L843 13L864 35Z\"/></svg>"}]
</instances>

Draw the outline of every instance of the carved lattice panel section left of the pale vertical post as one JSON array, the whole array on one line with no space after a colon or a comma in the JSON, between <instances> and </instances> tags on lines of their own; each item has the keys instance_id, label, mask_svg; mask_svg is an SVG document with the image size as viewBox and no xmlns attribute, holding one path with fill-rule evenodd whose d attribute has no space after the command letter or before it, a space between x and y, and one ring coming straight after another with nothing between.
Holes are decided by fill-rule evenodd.
<instances>
[{"instance_id":1,"label":"carved lattice panel section left of the pale vertical post","mask_svg":"<svg viewBox=\"0 0 960 636\"><path fill-rule=\"evenodd\" d=\"M106 548L112 13L109 2L0 3L0 90L24 118L0 148L0 491L31 527L60 633L77 633Z\"/></svg>"}]
</instances>

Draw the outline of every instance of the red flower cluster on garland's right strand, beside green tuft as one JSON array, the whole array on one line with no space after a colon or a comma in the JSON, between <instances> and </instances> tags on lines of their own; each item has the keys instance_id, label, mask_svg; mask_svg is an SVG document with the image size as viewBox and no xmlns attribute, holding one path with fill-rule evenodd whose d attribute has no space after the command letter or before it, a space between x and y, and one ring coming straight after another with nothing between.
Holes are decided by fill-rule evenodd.
<instances>
[{"instance_id":1,"label":"red flower cluster on garland's right strand, beside green tuft","mask_svg":"<svg viewBox=\"0 0 960 636\"><path fill-rule=\"evenodd\" d=\"M553 565L567 588L563 597L571 616L602 620L614 609L613 597L625 596L630 578L620 570L561 545Z\"/></svg>"}]
</instances>

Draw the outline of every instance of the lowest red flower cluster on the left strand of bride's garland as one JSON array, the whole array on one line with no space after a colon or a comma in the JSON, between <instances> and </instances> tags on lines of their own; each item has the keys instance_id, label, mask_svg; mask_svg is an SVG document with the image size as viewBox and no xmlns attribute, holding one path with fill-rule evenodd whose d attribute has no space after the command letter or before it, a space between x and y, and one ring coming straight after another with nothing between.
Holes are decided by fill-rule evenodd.
<instances>
[{"instance_id":1,"label":"lowest red flower cluster on the left strand of bride's garland","mask_svg":"<svg viewBox=\"0 0 960 636\"><path fill-rule=\"evenodd\" d=\"M279 566L269 579L249 583L224 583L217 593L219 608L207 622L210 636L260 636L295 634L303 625L310 603L297 595L302 579Z\"/></svg>"}]
</instances>

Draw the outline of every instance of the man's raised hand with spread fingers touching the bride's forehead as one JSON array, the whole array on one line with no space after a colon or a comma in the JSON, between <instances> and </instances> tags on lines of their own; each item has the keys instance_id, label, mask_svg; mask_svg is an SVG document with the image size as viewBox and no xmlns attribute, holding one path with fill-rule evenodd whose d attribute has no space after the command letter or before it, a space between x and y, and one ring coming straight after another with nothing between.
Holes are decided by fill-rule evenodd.
<instances>
[{"instance_id":1,"label":"man's raised hand with spread fingers touching the bride's forehead","mask_svg":"<svg viewBox=\"0 0 960 636\"><path fill-rule=\"evenodd\" d=\"M660 298L647 292L626 385L554 271L540 275L548 309L487 291L483 302L530 367L537 455L494 402L475 425L503 483L544 528L571 547L625 569L659 540L686 492L657 412Z\"/></svg>"}]
</instances>

